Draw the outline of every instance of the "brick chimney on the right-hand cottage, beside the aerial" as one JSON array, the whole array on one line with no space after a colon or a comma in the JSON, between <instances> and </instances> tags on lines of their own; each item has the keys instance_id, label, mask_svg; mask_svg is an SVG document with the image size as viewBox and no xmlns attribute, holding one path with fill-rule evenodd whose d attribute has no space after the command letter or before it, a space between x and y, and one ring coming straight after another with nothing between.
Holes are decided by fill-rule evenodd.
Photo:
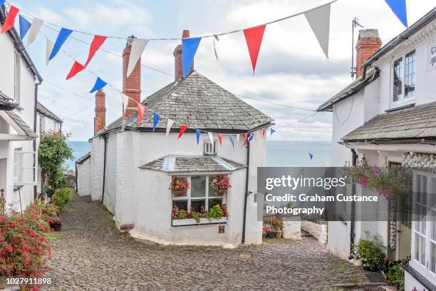
<instances>
[{"instance_id":1,"label":"brick chimney on the right-hand cottage, beside the aerial","mask_svg":"<svg viewBox=\"0 0 436 291\"><path fill-rule=\"evenodd\" d=\"M381 39L377 29L361 29L358 42L355 44L356 78L362 76L363 63L381 47Z\"/></svg>"}]
</instances>

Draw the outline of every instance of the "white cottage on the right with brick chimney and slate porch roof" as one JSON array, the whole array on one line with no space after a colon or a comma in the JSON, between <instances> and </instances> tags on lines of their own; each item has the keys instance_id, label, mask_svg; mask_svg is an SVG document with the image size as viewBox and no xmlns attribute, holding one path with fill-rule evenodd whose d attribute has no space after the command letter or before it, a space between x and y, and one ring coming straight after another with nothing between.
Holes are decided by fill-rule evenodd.
<instances>
[{"instance_id":1,"label":"white cottage on the right with brick chimney and slate porch roof","mask_svg":"<svg viewBox=\"0 0 436 291\"><path fill-rule=\"evenodd\" d=\"M332 166L353 165L365 156L371 165L435 167L436 9L385 46L380 44L377 31L359 32L358 79L318 108L333 113ZM427 201L432 201L436 178L422 175L428 181ZM416 185L419 175L414 177ZM368 189L355 185L353 192L364 195ZM411 255L405 290L436 290L436 222L427 217L412 222L412 205L419 202L412 199L395 199L402 219L376 214L378 221L355 221L360 209L348 205L344 211L351 213L351 220L328 223L329 249L346 258L351 243L365 239L365 230L378 233L390 260ZM430 206L425 206L427 211ZM386 213L388 207L382 199L376 213Z\"/></svg>"}]
</instances>

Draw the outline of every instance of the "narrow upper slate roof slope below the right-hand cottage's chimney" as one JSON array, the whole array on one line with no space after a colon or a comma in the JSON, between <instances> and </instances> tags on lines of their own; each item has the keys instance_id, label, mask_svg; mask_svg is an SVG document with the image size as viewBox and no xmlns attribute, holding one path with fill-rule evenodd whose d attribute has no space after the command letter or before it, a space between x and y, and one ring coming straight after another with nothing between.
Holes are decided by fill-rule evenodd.
<instances>
[{"instance_id":1,"label":"narrow upper slate roof slope below the right-hand cottage's chimney","mask_svg":"<svg viewBox=\"0 0 436 291\"><path fill-rule=\"evenodd\" d=\"M380 73L378 72L378 70L372 68L369 69L366 72L365 78L360 76L360 78L351 82L348 86L346 86L341 91L333 95L326 102L322 103L318 107L318 111L332 111L334 103L338 103L339 101L348 98L348 96L358 93L358 91L365 88L365 86L367 86L369 83L372 83L374 80L376 80L379 75Z\"/></svg>"}]
</instances>

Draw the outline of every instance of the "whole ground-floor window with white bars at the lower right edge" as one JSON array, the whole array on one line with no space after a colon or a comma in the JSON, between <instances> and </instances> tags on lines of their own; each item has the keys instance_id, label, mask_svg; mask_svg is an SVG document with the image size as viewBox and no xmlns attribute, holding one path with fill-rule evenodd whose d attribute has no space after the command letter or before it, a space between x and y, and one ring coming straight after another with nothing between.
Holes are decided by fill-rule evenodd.
<instances>
[{"instance_id":1,"label":"whole ground-floor window with white bars at the lower right edge","mask_svg":"<svg viewBox=\"0 0 436 291\"><path fill-rule=\"evenodd\" d=\"M410 265L436 282L436 175L413 175L412 261Z\"/></svg>"}]
</instances>

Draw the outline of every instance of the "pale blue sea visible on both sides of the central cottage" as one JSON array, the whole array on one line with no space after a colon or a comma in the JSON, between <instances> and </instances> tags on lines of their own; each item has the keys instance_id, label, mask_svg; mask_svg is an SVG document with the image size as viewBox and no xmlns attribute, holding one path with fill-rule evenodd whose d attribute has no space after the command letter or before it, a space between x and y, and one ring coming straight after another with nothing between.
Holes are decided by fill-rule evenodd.
<instances>
[{"instance_id":1,"label":"pale blue sea visible on both sides of the central cottage","mask_svg":"<svg viewBox=\"0 0 436 291\"><path fill-rule=\"evenodd\" d=\"M67 141L73 149L73 160L66 168L75 169L75 160L90 151L88 141ZM268 167L328 167L331 141L267 141L266 166Z\"/></svg>"}]
</instances>

